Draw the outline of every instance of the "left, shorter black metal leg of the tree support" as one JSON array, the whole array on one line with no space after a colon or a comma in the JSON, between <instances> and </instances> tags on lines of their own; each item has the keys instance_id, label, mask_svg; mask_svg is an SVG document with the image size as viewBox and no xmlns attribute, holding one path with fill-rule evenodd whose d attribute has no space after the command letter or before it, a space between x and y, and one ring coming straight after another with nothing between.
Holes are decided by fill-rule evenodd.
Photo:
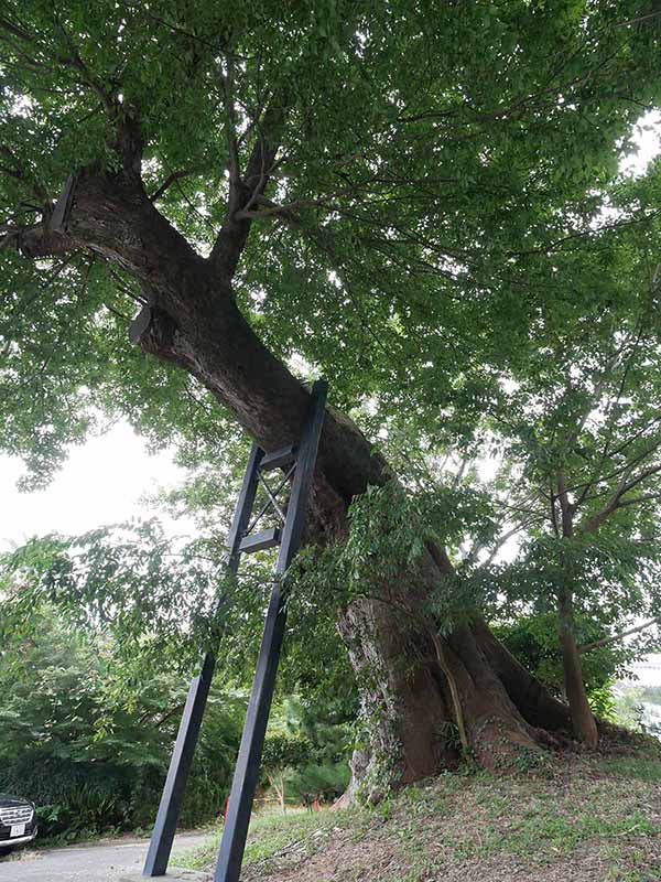
<instances>
[{"instance_id":1,"label":"left, shorter black metal leg of the tree support","mask_svg":"<svg viewBox=\"0 0 661 882\"><path fill-rule=\"evenodd\" d=\"M262 456L263 451L257 444L253 444L227 537L227 568L234 573L239 569L241 537L250 520L254 494L257 493L258 467ZM213 653L207 653L204 657L201 674L194 677L191 682L142 875L164 875L167 870L176 822L186 789L186 782L191 773L191 764L214 677L215 664L216 659Z\"/></svg>"}]
</instances>

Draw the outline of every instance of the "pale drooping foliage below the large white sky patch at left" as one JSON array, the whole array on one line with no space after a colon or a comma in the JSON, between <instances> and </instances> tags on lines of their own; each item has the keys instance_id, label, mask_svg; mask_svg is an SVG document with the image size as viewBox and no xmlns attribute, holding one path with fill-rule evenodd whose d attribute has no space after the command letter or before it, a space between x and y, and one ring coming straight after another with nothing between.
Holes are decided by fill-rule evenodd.
<instances>
[{"instance_id":1,"label":"pale drooping foliage below the large white sky patch at left","mask_svg":"<svg viewBox=\"0 0 661 882\"><path fill-rule=\"evenodd\" d=\"M83 632L111 635L127 679L138 657L189 670L201 647L217 645L235 589L214 540L177 542L154 520L33 539L2 556L0 578L6 639L34 634L51 605Z\"/></svg>"}]
</instances>

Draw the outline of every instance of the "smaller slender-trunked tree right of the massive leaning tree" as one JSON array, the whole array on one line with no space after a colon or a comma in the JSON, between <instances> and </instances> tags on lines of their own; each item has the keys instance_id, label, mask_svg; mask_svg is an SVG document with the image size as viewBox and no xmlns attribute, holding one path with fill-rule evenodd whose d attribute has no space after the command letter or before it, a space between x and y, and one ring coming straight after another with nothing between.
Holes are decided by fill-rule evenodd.
<instances>
[{"instance_id":1,"label":"smaller slender-trunked tree right of the massive leaning tree","mask_svg":"<svg viewBox=\"0 0 661 882\"><path fill-rule=\"evenodd\" d=\"M649 200L657 176L622 183L614 204ZM593 746L574 611L621 631L627 612L653 621L658 605L659 229L655 212L631 219L553 255L563 290L551 310L539 299L488 408L511 469L503 510L529 533L514 581L556 607L573 728Z\"/></svg>"}]
</instances>

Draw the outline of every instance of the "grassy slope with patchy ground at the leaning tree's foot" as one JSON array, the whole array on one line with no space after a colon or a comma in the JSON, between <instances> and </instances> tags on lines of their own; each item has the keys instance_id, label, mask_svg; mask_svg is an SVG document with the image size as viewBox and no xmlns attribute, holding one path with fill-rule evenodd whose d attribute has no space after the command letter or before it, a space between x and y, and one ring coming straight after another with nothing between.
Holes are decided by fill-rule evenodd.
<instances>
[{"instance_id":1,"label":"grassy slope with patchy ground at the leaning tree's foot","mask_svg":"<svg viewBox=\"0 0 661 882\"><path fill-rule=\"evenodd\" d=\"M188 865L208 868L216 847ZM371 810L257 816L241 880L661 880L661 762L576 759L519 777L444 774Z\"/></svg>"}]
</instances>

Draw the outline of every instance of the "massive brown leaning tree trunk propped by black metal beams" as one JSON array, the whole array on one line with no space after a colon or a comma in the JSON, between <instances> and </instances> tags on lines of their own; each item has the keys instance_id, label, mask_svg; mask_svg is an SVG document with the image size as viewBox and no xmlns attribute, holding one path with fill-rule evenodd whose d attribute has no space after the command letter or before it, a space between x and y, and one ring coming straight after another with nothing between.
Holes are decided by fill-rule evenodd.
<instances>
[{"instance_id":1,"label":"massive brown leaning tree trunk propped by black metal beams","mask_svg":"<svg viewBox=\"0 0 661 882\"><path fill-rule=\"evenodd\" d=\"M20 247L31 257L93 250L129 271L149 302L133 322L133 341L194 375L270 451L299 437L308 392L237 308L231 276L238 257L230 252L247 229L228 222L228 230L225 249L215 249L220 259L204 259L159 214L136 173L93 169L78 179L67 228L32 227ZM351 499L388 480L387 463L357 427L328 408L312 492L315 539L342 539ZM429 584L451 569L435 548L424 566ZM424 592L412 589L405 573L388 593L388 600L356 601L339 622L369 723L367 750L355 759L368 796L455 764L462 747L486 766L506 766L566 728L566 709L484 623L441 637L424 612Z\"/></svg>"}]
</instances>

